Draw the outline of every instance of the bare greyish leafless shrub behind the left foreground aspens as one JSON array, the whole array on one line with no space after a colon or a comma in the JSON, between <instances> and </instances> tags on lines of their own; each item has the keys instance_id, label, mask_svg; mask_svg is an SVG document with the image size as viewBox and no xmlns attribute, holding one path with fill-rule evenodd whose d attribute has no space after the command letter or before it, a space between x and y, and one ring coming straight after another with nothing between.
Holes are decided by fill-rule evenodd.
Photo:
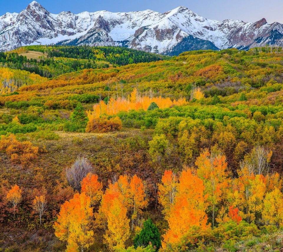
<instances>
[{"instance_id":1,"label":"bare greyish leafless shrub behind the left foreground aspens","mask_svg":"<svg viewBox=\"0 0 283 252\"><path fill-rule=\"evenodd\" d=\"M66 169L66 178L70 186L80 192L80 182L91 172L92 166L87 158L77 158L75 163Z\"/></svg>"}]
</instances>

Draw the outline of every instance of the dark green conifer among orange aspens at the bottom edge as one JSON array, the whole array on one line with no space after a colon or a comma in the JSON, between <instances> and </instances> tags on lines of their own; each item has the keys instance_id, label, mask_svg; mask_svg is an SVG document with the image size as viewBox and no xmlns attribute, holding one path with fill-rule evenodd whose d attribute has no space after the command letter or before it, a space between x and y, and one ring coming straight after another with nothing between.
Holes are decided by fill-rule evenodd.
<instances>
[{"instance_id":1,"label":"dark green conifer among orange aspens at the bottom edge","mask_svg":"<svg viewBox=\"0 0 283 252\"><path fill-rule=\"evenodd\" d=\"M141 232L136 234L136 237L134 238L134 247L146 247L149 245L149 243L156 248L156 251L158 251L161 247L159 230L156 225L152 223L151 219L146 220Z\"/></svg>"}]
</instances>

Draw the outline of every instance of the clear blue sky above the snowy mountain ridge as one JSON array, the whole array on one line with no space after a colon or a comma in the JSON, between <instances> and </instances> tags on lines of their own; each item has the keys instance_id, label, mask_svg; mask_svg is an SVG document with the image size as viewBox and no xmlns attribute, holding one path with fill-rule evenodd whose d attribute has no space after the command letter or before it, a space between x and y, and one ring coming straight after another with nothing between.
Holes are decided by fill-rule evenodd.
<instances>
[{"instance_id":1,"label":"clear blue sky above the snowy mountain ridge","mask_svg":"<svg viewBox=\"0 0 283 252\"><path fill-rule=\"evenodd\" d=\"M0 0L0 16L6 12L20 12L32 0ZM166 12L178 6L186 6L208 19L240 19L255 22L265 17L267 22L283 23L283 0L38 0L49 12L58 14L70 11L129 12L151 9Z\"/></svg>"}]
</instances>

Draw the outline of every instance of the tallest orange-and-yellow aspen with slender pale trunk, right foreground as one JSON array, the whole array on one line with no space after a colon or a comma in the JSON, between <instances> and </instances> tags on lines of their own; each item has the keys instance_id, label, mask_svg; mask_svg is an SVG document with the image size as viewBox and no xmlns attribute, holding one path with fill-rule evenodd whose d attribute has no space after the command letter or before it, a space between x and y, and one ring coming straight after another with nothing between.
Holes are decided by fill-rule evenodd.
<instances>
[{"instance_id":1,"label":"tallest orange-and-yellow aspen with slender pale trunk, right foreground","mask_svg":"<svg viewBox=\"0 0 283 252\"><path fill-rule=\"evenodd\" d=\"M227 162L225 156L213 156L206 149L195 162L197 174L203 180L205 193L208 194L209 209L214 227L218 203L228 187Z\"/></svg>"}]
</instances>

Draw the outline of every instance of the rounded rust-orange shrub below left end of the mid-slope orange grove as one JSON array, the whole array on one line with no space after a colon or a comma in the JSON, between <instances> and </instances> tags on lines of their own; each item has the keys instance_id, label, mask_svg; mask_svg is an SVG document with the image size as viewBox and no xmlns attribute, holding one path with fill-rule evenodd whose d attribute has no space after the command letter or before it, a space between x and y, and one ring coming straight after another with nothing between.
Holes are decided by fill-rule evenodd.
<instances>
[{"instance_id":1,"label":"rounded rust-orange shrub below left end of the mid-slope orange grove","mask_svg":"<svg viewBox=\"0 0 283 252\"><path fill-rule=\"evenodd\" d=\"M122 129L122 121L119 117L107 119L107 117L91 117L86 125L85 132L111 132Z\"/></svg>"}]
</instances>

